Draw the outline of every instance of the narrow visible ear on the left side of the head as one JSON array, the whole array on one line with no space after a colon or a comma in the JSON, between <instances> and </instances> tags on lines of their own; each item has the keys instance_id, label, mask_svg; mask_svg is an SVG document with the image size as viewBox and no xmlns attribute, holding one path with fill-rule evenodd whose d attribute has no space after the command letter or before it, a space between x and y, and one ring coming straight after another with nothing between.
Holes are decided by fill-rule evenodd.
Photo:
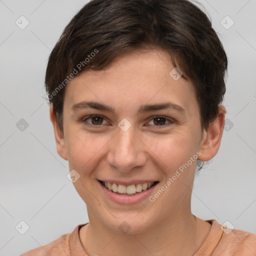
<instances>
[{"instance_id":1,"label":"narrow visible ear on the left side of the head","mask_svg":"<svg viewBox=\"0 0 256 256\"><path fill-rule=\"evenodd\" d=\"M67 160L68 158L67 158L67 153L66 153L65 138L64 138L64 135L63 135L62 131L60 130L58 124L57 124L56 115L53 111L52 104L50 104L49 111L50 111L50 120L52 122L53 129L54 129L54 136L55 136L57 152L63 159Z\"/></svg>"}]
</instances>

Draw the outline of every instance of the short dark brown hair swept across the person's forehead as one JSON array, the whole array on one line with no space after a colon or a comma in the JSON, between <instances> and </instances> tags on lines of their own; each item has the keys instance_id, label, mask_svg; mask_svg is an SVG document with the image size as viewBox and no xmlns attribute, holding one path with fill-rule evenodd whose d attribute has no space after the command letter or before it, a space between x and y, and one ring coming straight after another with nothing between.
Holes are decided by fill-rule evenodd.
<instances>
[{"instance_id":1,"label":"short dark brown hair swept across the person's forehead","mask_svg":"<svg viewBox=\"0 0 256 256\"><path fill-rule=\"evenodd\" d=\"M120 54L152 47L168 50L182 77L193 83L206 129L223 100L227 69L206 14L188 0L91 0L64 28L48 60L45 88L61 130L64 85L72 70L101 70Z\"/></svg>"}]
</instances>

